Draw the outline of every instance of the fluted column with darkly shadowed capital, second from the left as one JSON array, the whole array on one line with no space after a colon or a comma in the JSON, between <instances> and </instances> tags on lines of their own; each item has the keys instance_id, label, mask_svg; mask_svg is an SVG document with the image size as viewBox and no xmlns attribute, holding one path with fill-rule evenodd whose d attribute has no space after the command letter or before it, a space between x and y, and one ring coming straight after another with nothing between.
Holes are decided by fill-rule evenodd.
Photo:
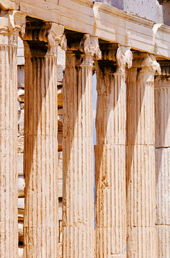
<instances>
[{"instance_id":1,"label":"fluted column with darkly shadowed capital, second from the left","mask_svg":"<svg viewBox=\"0 0 170 258\"><path fill-rule=\"evenodd\" d=\"M58 257L56 67L62 32L51 22L26 23L24 257Z\"/></svg>"}]
</instances>

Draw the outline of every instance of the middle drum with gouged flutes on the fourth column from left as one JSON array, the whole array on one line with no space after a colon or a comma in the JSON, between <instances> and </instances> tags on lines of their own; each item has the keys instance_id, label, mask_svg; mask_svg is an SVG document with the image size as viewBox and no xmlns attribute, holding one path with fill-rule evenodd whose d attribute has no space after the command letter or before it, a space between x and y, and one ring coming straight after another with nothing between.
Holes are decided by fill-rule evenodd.
<instances>
[{"instance_id":1,"label":"middle drum with gouged flutes on the fourth column from left","mask_svg":"<svg viewBox=\"0 0 170 258\"><path fill-rule=\"evenodd\" d=\"M126 227L125 154L124 145L95 146L97 227Z\"/></svg>"}]
</instances>

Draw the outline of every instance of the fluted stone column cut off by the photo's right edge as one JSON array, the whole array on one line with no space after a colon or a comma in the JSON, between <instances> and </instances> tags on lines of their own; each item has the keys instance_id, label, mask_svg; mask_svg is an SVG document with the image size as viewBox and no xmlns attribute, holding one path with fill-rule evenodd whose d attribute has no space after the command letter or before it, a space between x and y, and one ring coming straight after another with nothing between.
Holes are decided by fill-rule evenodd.
<instances>
[{"instance_id":1,"label":"fluted stone column cut off by the photo's right edge","mask_svg":"<svg viewBox=\"0 0 170 258\"><path fill-rule=\"evenodd\" d=\"M169 61L161 61L162 73ZM158 257L170 257L170 77L155 79L155 170Z\"/></svg>"}]
</instances>

